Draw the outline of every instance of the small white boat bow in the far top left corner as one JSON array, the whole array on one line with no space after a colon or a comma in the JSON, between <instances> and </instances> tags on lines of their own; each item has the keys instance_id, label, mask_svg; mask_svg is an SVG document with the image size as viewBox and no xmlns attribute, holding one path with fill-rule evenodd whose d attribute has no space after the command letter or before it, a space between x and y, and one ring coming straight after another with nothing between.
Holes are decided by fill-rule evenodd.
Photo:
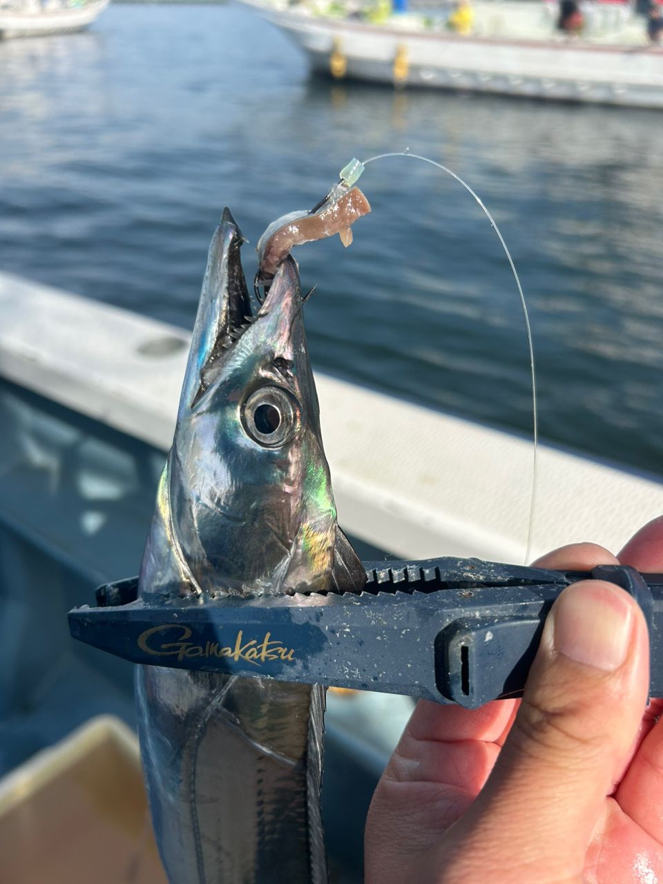
<instances>
[{"instance_id":1,"label":"small white boat bow in the far top left corner","mask_svg":"<svg viewBox=\"0 0 663 884\"><path fill-rule=\"evenodd\" d=\"M82 31L101 15L109 3L110 0L0 3L0 39Z\"/></svg>"}]
</instances>

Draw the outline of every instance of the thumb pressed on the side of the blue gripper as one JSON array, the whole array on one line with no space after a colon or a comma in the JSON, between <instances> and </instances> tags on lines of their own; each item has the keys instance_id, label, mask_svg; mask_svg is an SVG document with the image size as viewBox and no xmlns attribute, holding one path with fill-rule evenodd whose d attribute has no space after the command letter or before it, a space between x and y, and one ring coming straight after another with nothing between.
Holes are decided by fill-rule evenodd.
<instances>
[{"instance_id":1,"label":"thumb pressed on the side of the blue gripper","mask_svg":"<svg viewBox=\"0 0 663 884\"><path fill-rule=\"evenodd\" d=\"M446 861L456 871L449 880L475 880L476 857L484 868L486 860L498 864L500 882L581 880L648 687L647 628L633 598L601 581L563 591L492 775L448 833Z\"/></svg>"}]
</instances>

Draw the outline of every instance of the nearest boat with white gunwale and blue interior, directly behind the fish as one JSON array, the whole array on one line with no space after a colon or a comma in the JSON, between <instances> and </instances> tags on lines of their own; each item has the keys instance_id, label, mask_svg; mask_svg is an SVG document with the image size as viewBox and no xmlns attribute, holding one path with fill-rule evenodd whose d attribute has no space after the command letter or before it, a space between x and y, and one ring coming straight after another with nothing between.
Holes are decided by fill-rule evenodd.
<instances>
[{"instance_id":1,"label":"nearest boat with white gunwale and blue interior, directly behind the fish","mask_svg":"<svg viewBox=\"0 0 663 884\"><path fill-rule=\"evenodd\" d=\"M0 272L4 884L45 869L117 884L130 856L131 880L163 884L136 740L118 723L133 728L133 666L74 642L66 615L136 572L189 342L178 326ZM524 559L528 440L320 372L316 386L339 522L363 559ZM618 549L660 512L659 479L539 446L532 557L581 538ZM328 696L332 880L361 880L370 796L411 710L408 697Z\"/></svg>"}]
</instances>

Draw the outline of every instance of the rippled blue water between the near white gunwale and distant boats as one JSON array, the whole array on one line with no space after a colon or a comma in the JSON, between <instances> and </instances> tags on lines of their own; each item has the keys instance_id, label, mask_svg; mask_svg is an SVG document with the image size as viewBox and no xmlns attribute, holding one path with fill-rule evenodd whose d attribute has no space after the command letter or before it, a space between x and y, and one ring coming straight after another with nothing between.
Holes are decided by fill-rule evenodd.
<instances>
[{"instance_id":1,"label":"rippled blue water between the near white gunwale and distant boats","mask_svg":"<svg viewBox=\"0 0 663 884\"><path fill-rule=\"evenodd\" d=\"M224 205L255 242L352 156L409 147L469 181L514 253L543 437L663 474L662 133L656 112L310 79L237 5L111 7L0 43L0 269L190 326ZM316 365L527 431L522 315L476 204L408 160L362 187L353 247L298 253Z\"/></svg>"}]
</instances>

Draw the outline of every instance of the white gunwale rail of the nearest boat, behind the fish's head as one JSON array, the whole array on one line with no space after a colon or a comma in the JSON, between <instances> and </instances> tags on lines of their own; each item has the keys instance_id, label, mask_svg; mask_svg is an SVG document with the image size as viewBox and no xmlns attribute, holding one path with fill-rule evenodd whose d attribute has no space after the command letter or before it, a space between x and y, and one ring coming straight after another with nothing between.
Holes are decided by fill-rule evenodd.
<instances>
[{"instance_id":1,"label":"white gunwale rail of the nearest boat, behind the fish's head","mask_svg":"<svg viewBox=\"0 0 663 884\"><path fill-rule=\"evenodd\" d=\"M165 450L188 334L0 273L0 376ZM531 444L316 375L339 521L402 556L522 561ZM619 549L663 512L663 484L540 446L532 554Z\"/></svg>"}]
</instances>

